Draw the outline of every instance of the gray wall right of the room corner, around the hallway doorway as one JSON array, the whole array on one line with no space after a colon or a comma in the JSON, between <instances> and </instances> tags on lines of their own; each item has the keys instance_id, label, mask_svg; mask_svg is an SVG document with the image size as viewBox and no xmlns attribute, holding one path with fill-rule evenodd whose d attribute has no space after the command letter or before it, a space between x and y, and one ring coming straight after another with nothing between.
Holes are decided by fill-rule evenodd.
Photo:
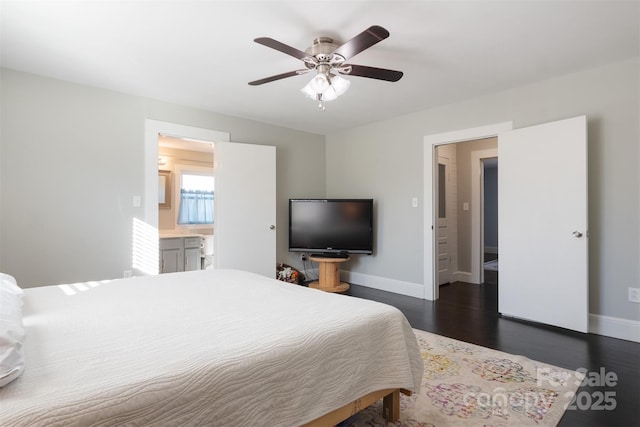
<instances>
[{"instance_id":1,"label":"gray wall right of the room corner, around the hallway doorway","mask_svg":"<svg viewBox=\"0 0 640 427\"><path fill-rule=\"evenodd\" d=\"M589 132L590 312L640 320L627 287L638 260L639 59L566 75L327 135L327 195L378 201L377 250L351 270L423 282L423 137L513 120L514 127L586 114ZM383 108L378 104L376 108Z\"/></svg>"}]
</instances>

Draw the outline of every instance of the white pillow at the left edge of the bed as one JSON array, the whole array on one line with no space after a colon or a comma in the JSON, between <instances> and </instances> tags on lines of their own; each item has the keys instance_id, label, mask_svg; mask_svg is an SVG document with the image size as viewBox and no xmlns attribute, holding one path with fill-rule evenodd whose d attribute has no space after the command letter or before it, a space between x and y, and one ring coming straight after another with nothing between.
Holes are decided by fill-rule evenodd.
<instances>
[{"instance_id":1,"label":"white pillow at the left edge of the bed","mask_svg":"<svg viewBox=\"0 0 640 427\"><path fill-rule=\"evenodd\" d=\"M0 387L24 370L22 294L16 279L0 273Z\"/></svg>"}]
</instances>

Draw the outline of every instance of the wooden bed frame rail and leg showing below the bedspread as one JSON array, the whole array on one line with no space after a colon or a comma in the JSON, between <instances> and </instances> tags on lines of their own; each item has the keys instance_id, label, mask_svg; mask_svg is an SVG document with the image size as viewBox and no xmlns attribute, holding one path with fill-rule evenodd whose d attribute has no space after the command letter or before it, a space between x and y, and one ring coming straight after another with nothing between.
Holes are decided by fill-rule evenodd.
<instances>
[{"instance_id":1,"label":"wooden bed frame rail and leg showing below the bedspread","mask_svg":"<svg viewBox=\"0 0 640 427\"><path fill-rule=\"evenodd\" d=\"M304 424L303 427L335 426L380 399L383 399L382 416L387 421L394 423L398 421L398 418L400 418L400 393L411 396L411 392L409 390L400 388L388 388L385 390L374 391L373 393L369 393L351 403L347 403L346 405L336 409L335 411L331 411L320 418L316 418L310 423Z\"/></svg>"}]
</instances>

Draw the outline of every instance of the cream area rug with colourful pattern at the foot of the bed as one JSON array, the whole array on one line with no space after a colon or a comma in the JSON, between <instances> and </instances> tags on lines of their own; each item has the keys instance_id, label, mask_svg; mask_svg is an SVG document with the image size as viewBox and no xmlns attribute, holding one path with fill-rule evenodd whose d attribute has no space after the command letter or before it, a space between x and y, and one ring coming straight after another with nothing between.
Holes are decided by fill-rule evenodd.
<instances>
[{"instance_id":1,"label":"cream area rug with colourful pattern at the foot of the bed","mask_svg":"<svg viewBox=\"0 0 640 427\"><path fill-rule=\"evenodd\" d=\"M555 426L584 377L486 347L414 329L424 360L422 388L400 397L400 420L382 402L341 427Z\"/></svg>"}]
</instances>

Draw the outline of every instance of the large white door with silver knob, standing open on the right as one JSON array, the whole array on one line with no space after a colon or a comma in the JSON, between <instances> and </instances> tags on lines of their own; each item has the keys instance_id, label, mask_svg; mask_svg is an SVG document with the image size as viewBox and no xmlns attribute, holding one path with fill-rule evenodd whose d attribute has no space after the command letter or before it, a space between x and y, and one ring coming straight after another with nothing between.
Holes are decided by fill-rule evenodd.
<instances>
[{"instance_id":1,"label":"large white door with silver knob, standing open on the right","mask_svg":"<svg viewBox=\"0 0 640 427\"><path fill-rule=\"evenodd\" d=\"M498 311L588 328L586 117L498 137Z\"/></svg>"}]
</instances>

